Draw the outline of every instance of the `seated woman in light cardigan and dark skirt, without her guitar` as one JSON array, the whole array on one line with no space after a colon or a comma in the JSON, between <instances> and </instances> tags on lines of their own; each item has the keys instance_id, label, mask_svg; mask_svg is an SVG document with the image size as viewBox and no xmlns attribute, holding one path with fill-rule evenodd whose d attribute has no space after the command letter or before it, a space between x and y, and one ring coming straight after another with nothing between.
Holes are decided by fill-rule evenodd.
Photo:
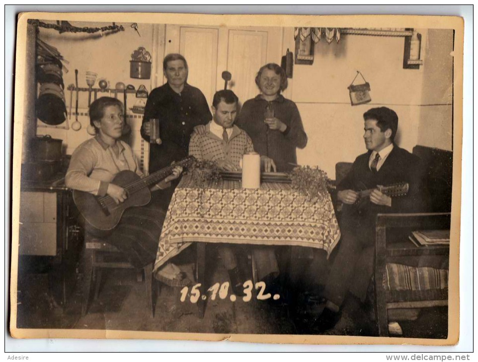
<instances>
[{"instance_id":1,"label":"seated woman in light cardigan and dark skirt, without her guitar","mask_svg":"<svg viewBox=\"0 0 478 362\"><path fill-rule=\"evenodd\" d=\"M125 203L128 197L135 197L126 187L111 182L124 171L133 172L140 178L144 176L131 147L119 139L125 124L123 114L123 104L115 98L101 97L90 105L90 124L95 127L96 136L83 142L73 153L65 177L67 187L102 196L116 205ZM180 166L172 167L171 174L150 191L167 188L181 172ZM137 177L133 175L133 178L135 181ZM117 247L137 268L154 262L165 210L148 205L125 209L121 215L121 220L111 230L98 230L86 222L85 232Z\"/></svg>"}]
</instances>

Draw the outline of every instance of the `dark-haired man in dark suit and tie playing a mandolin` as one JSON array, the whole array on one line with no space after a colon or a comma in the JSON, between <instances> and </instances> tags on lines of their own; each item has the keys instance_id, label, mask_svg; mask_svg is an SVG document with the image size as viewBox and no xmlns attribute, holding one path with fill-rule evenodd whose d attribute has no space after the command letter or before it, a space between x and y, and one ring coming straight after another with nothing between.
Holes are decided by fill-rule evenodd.
<instances>
[{"instance_id":1,"label":"dark-haired man in dark suit and tie playing a mandolin","mask_svg":"<svg viewBox=\"0 0 478 362\"><path fill-rule=\"evenodd\" d=\"M394 143L397 114L379 107L368 110L363 117L368 152L356 158L351 171L337 185L337 197L343 203L342 238L325 284L325 308L316 321L319 331L332 328L340 319L347 292L365 301L374 268L377 214L418 212L425 206L420 160ZM397 183L403 185L378 187ZM389 194L397 188L406 194L391 197Z\"/></svg>"}]
</instances>

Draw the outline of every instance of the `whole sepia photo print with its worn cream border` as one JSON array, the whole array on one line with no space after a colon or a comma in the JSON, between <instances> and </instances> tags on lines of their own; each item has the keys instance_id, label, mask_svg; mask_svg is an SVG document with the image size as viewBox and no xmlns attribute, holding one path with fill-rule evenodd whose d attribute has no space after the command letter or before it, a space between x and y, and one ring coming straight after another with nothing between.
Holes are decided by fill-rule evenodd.
<instances>
[{"instance_id":1,"label":"whole sepia photo print with its worn cream border","mask_svg":"<svg viewBox=\"0 0 478 362\"><path fill-rule=\"evenodd\" d=\"M458 342L461 18L21 13L15 57L13 337Z\"/></svg>"}]
</instances>

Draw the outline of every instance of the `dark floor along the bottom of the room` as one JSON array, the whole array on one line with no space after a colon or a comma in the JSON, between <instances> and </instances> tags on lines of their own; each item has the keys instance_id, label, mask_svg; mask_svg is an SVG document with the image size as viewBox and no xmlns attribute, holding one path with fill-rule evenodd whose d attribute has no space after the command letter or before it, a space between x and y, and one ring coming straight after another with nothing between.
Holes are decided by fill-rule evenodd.
<instances>
[{"instance_id":1,"label":"dark floor along the bottom of the room","mask_svg":"<svg viewBox=\"0 0 478 362\"><path fill-rule=\"evenodd\" d=\"M216 281L228 281L226 270L218 267ZM76 328L130 331L169 331L194 333L303 334L290 318L285 306L252 299L208 301L204 318L198 318L197 306L180 302L180 288L162 286L153 318L147 308L144 283L132 270L114 270L105 274L97 300L90 302L81 316L81 273L68 303L61 307L48 291L47 274L28 274L19 281L19 328ZM375 336L372 314L359 310L357 303L344 305L342 318L326 334ZM352 318L353 316L353 318ZM447 309L423 310L418 320L400 322L404 337L446 338Z\"/></svg>"}]
</instances>

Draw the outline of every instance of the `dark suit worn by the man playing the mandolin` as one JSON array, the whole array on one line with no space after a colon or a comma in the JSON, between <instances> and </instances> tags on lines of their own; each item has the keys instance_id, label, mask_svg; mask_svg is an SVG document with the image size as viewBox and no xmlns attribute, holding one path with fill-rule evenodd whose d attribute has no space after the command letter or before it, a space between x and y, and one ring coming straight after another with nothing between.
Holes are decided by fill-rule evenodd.
<instances>
[{"instance_id":1,"label":"dark suit worn by the man playing the mandolin","mask_svg":"<svg viewBox=\"0 0 478 362\"><path fill-rule=\"evenodd\" d=\"M406 196L392 198L392 207L364 200L366 204L358 212L355 205L344 205L340 220L342 240L325 288L325 292L330 294L327 298L333 296L335 299L331 300L335 303L343 301L347 289L362 301L365 300L373 274L377 214L420 212L426 206L423 189L425 170L417 156L394 145L380 170L374 174L369 168L371 153L369 151L357 157L349 174L337 186L338 190L360 191L398 182L408 182L409 190ZM351 244L350 236L359 241L358 245ZM335 263L340 265L335 267Z\"/></svg>"}]
</instances>

